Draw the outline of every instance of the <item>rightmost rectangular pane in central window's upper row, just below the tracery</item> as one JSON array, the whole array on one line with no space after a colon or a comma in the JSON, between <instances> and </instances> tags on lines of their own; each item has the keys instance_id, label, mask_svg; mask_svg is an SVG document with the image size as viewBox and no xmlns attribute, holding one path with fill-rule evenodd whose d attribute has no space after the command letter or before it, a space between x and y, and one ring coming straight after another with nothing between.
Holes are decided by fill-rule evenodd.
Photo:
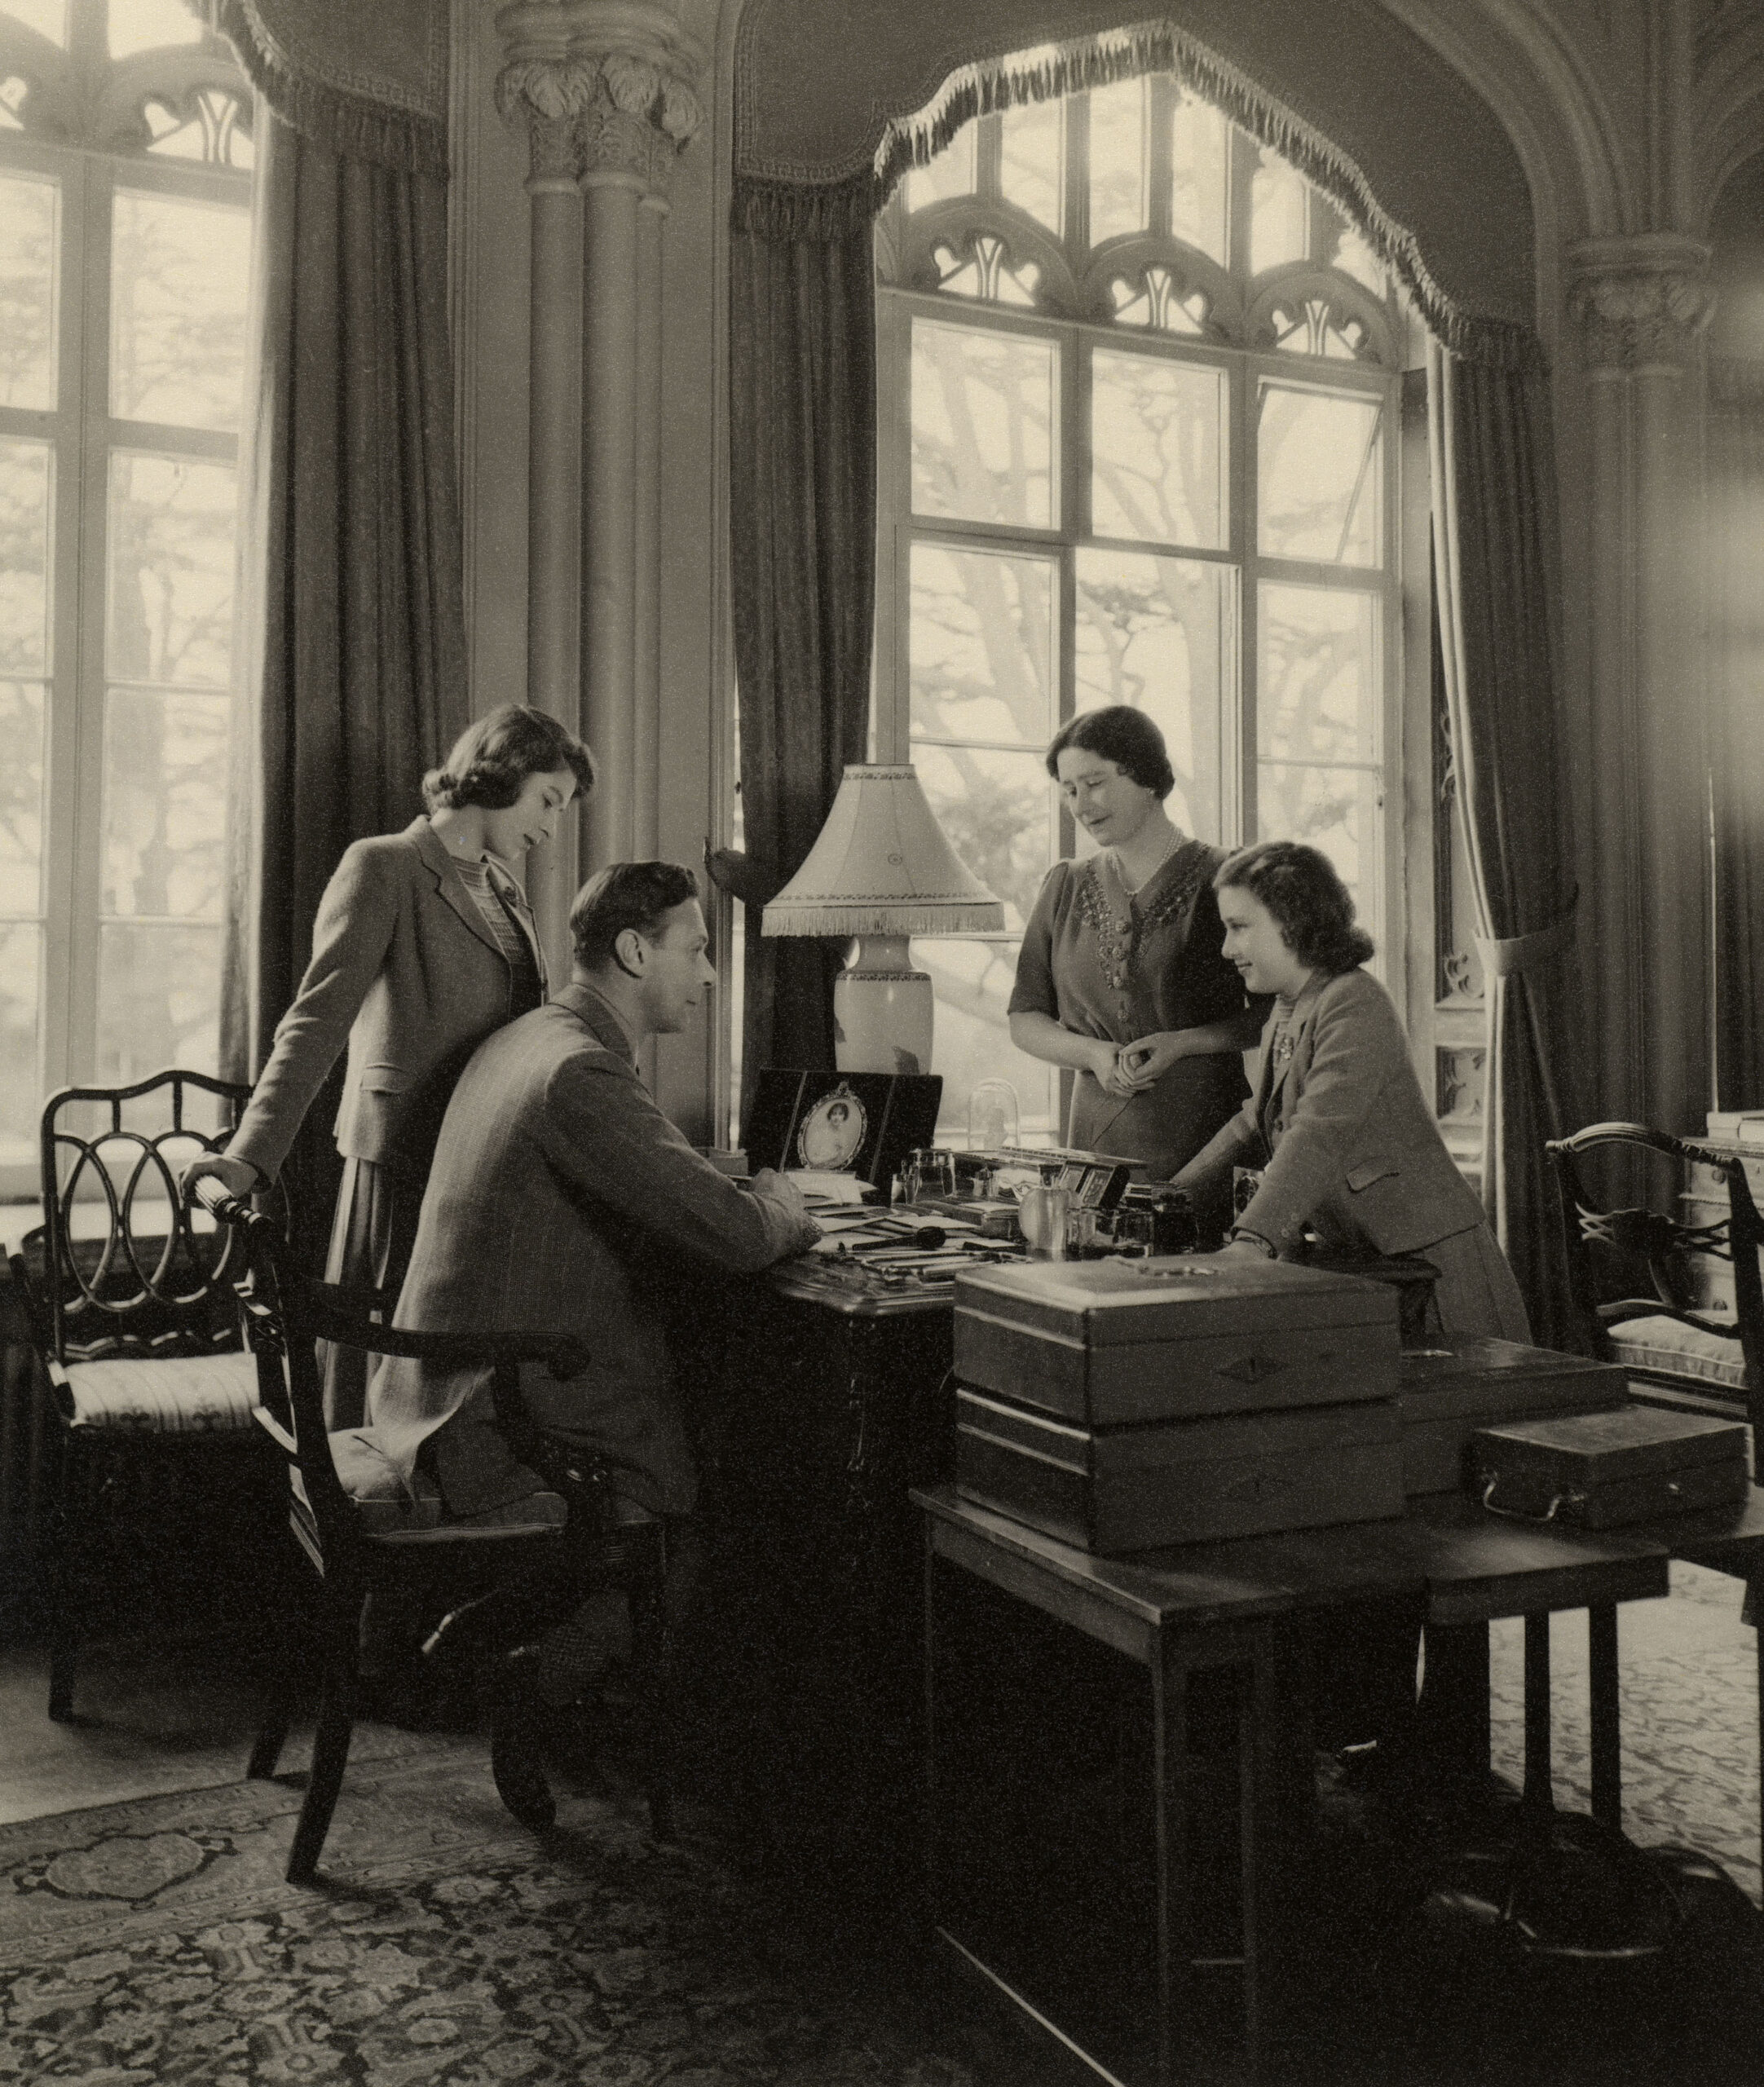
<instances>
[{"instance_id":1,"label":"rightmost rectangular pane in central window's upper row, just below the tracery","mask_svg":"<svg viewBox=\"0 0 1764 2087\"><path fill-rule=\"evenodd\" d=\"M1380 415L1363 392L1263 384L1257 543L1269 557L1380 563Z\"/></svg>"}]
</instances>

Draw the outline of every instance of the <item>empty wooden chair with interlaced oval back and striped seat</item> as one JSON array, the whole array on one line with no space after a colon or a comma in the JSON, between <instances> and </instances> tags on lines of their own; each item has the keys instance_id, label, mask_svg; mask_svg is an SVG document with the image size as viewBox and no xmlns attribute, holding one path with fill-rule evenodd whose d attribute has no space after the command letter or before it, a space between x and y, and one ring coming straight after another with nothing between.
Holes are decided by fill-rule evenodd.
<instances>
[{"instance_id":1,"label":"empty wooden chair with interlaced oval back and striped seat","mask_svg":"<svg viewBox=\"0 0 1764 2087\"><path fill-rule=\"evenodd\" d=\"M253 1425L234 1275L242 1244L184 1208L177 1173L219 1150L248 1087L167 1071L44 1104L44 1221L13 1277L50 1386L58 1471L46 1532L48 1713L73 1718L84 1638L213 1607L273 1498Z\"/></svg>"}]
</instances>

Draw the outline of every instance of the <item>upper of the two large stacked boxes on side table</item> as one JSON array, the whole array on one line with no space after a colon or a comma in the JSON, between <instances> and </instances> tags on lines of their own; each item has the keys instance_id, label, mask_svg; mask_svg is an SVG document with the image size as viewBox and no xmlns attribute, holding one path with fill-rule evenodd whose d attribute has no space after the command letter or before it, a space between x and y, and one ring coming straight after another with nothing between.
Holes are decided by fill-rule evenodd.
<instances>
[{"instance_id":1,"label":"upper of the two large stacked boxes on side table","mask_svg":"<svg viewBox=\"0 0 1764 2087\"><path fill-rule=\"evenodd\" d=\"M1397 1396L1397 1292L1165 1254L983 1263L956 1277L958 1382L1079 1428Z\"/></svg>"}]
</instances>

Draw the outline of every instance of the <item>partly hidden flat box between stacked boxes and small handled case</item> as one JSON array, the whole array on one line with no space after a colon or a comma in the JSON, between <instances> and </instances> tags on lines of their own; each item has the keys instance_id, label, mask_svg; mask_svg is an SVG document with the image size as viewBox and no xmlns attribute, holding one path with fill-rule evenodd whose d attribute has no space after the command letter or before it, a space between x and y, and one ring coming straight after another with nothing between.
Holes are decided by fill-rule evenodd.
<instances>
[{"instance_id":1,"label":"partly hidden flat box between stacked boxes and small handled case","mask_svg":"<svg viewBox=\"0 0 1764 2087\"><path fill-rule=\"evenodd\" d=\"M1626 1405L1620 1363L1526 1348L1518 1340L1455 1338L1403 1352L1403 1486L1455 1492L1474 1478L1478 1428L1541 1421L1553 1413L1601 1413Z\"/></svg>"}]
</instances>

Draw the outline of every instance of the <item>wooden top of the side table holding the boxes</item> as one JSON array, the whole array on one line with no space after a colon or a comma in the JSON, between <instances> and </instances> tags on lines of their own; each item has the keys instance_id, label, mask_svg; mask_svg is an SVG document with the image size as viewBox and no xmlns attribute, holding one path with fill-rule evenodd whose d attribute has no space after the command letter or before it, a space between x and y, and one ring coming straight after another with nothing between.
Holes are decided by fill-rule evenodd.
<instances>
[{"instance_id":1,"label":"wooden top of the side table holding the boxes","mask_svg":"<svg viewBox=\"0 0 1764 2087\"><path fill-rule=\"evenodd\" d=\"M1764 1563L1764 1494L1708 1515L1645 1528L1555 1532L1503 1521L1459 1494L1411 1501L1401 1519L1353 1521L1280 1536L1179 1544L1127 1559L1094 1557L952 1486L914 1492L933 1532L964 1532L1023 1563L1102 1597L1148 1624L1250 1622L1349 1601L1424 1603L1432 1624L1491 1622L1670 1592L1668 1561Z\"/></svg>"}]
</instances>

